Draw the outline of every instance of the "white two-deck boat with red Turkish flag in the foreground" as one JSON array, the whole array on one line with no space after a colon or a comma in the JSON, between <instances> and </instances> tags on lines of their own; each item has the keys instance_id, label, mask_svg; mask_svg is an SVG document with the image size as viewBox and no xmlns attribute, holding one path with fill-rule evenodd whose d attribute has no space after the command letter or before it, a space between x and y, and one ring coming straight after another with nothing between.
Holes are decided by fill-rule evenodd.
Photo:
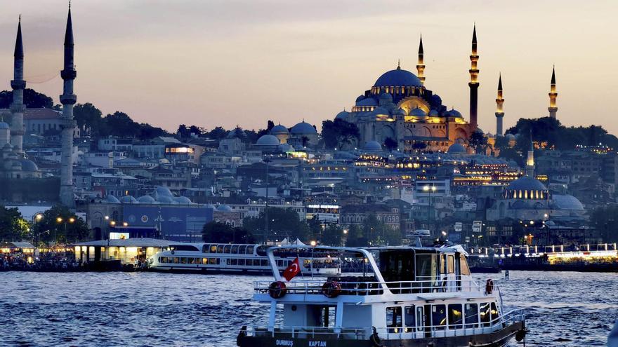
<instances>
[{"instance_id":1,"label":"white two-deck boat with red Turkish flag in the foreground","mask_svg":"<svg viewBox=\"0 0 618 347\"><path fill-rule=\"evenodd\" d=\"M507 312L497 283L471 277L461 246L313 249L366 271L288 281L270 248L274 281L254 287L270 315L243 326L237 346L499 347L525 339L525 311Z\"/></svg>"}]
</instances>

